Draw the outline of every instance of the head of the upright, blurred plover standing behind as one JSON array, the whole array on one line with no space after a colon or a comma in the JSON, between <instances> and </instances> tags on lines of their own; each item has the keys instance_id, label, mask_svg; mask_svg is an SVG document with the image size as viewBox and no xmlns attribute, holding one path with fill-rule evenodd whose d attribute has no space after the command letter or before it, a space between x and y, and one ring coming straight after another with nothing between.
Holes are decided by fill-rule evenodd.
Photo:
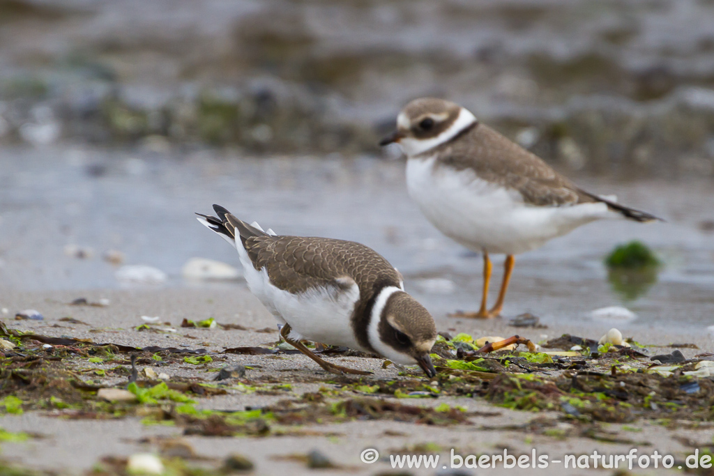
<instances>
[{"instance_id":1,"label":"head of the upright, blurred plover standing behind","mask_svg":"<svg viewBox=\"0 0 714 476\"><path fill-rule=\"evenodd\" d=\"M397 130L383 138L380 146L396 142L407 156L416 156L451 140L476 117L468 109L438 98L419 98L408 103L397 116Z\"/></svg>"}]
</instances>

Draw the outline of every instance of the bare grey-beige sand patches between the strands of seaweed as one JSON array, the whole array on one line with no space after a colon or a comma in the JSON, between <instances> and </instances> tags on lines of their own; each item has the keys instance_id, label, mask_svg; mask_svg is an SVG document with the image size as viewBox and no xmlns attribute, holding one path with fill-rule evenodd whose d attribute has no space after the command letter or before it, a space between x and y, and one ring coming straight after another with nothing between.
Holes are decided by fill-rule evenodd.
<instances>
[{"instance_id":1,"label":"bare grey-beige sand patches between the strands of seaweed","mask_svg":"<svg viewBox=\"0 0 714 476\"><path fill-rule=\"evenodd\" d=\"M109 298L106 308L69 305L71 300L79 297L96 301ZM187 348L206 348L211 352L219 352L224 347L240 345L269 345L277 340L277 332L258 333L266 327L274 327L271 315L253 298L245 286L233 284L206 289L154 289L154 290L73 290L73 291L42 291L20 292L6 291L3 293L1 307L9 309L9 315L2 320L9 328L32 330L43 335L69 335L74 338L90 338L94 342L112 342L124 345L145 346L161 345ZM43 321L13 320L11 314L16 310L34 308L45 317ZM177 333L159 334L139 332L137 325L144 321L141 315L160 316L161 321L171 323ZM59 321L59 318L71 316L88 325L72 324ZM201 320L215 318L219 323L240 324L249 330L220 329L186 329L179 328L183 318ZM547 329L516 329L507 325L507 319L494 320L463 320L448 318L446 315L435 315L439 330L450 332L466 332L471 335L501 335L513 333L531 338L534 341L543 340L543 335L558 336L562 333L573 333L583 337L597 339L608 330L604 323L583 323L573 320L573 323L549 325ZM59 326L59 327L58 327ZM188 337L190 336L190 337ZM640 328L633 333L633 338L648 345L668 345L674 341L695 343L700 350L681 349L686 357L696 353L714 351L710 338L703 335L688 333L663 333L657 329ZM667 347L653 349L655 353L670 352ZM355 368L372 370L376 379L397 378L396 370L381 368L382 360L373 358L332 358L334 362ZM326 375L314 365L311 360L301 355L253 356L253 355L214 355L214 360L206 366L196 368L193 365L171 365L161 368L155 366L157 372L169 373L172 377L195 378L208 380L215 373L209 373L210 368L221 368L223 365L256 365L248 370L251 379L263 376L273 376L281 381L303 377L318 377L323 383L298 383L285 395L269 396L242 394L228 391L228 395L199 398L200 407L221 410L243 410L246 406L265 406L286 397L296 397L308 391L316 391L321 386L335 387L331 384L331 375ZM84 366L102 368L102 364L85 363ZM259 367L259 368L258 368ZM116 378L99 379L102 385L122 383ZM339 385L337 386L339 387ZM346 474L374 475L387 472L389 465L381 460L373 465L366 465L359 460L363 449L374 447L381 454L403 451L404 448L418 444L438 444L448 453L455 447L461 454L483 454L502 452L530 453L535 447L538 454L548 454L555 460L563 454L592 452L607 452L612 454L627 453L631 447L638 447L640 454L657 449L683 460L691 449L684 442L697 442L704 447L714 436L714 427L702 423L699 427L678 427L675 429L655 425L653 421L640 420L629 425L603 424L612 437L630 440L630 443L608 443L595 441L584 437L568 437L561 440L558 437L524 434L528 422L555 420L557 415L551 412L518 412L490 405L482 398L440 397L438 399L418 399L408 403L413 405L438 405L446 402L450 405L461 405L470 411L483 412L484 415L471 417L471 425L456 425L448 427L433 427L413 425L388 421L353 421L333 425L308 425L302 430L314 430L316 434L332 436L284 436L264 438L226 438L188 436L186 440L198 455L208 457L209 462L222 459L232 452L238 452L249 457L256 464L256 474L278 475L284 472L290 474L314 474L301 462L280 460L289 455L304 455L312 449L318 449L331 460L347 465L351 469ZM9 431L36 432L44 435L41 439L32 439L22 443L3 443L3 457L9 462L20 463L28 467L46 470L61 468L62 474L79 474L90 469L101 457L106 455L131 455L135 452L152 452L158 450L159 440L151 437L179 437L178 427L146 426L136 418L126 420L65 420L52 417L53 411L26 412L21 416L6 415L0 417L0 426ZM519 426L521 425L521 426ZM565 429L570 423L560 420L555 423L558 428ZM486 429L485 427L491 427ZM150 438L152 442L140 442ZM146 440L144 440L146 441ZM446 454L445 453L445 454ZM444 456L442 456L444 457ZM197 461L196 464L206 464ZM442 471L442 470L439 470ZM569 475L562 465L553 463L547 470L549 474ZM343 471L330 472L341 474ZM411 474L435 474L434 470L411 470ZM493 471L493 474L511 472L503 468ZM544 472L544 471L543 471ZM457 474L436 472L436 474ZM460 473L459 473L460 474ZM467 471L463 474L474 474ZM674 474L674 472L673 472Z\"/></svg>"}]
</instances>

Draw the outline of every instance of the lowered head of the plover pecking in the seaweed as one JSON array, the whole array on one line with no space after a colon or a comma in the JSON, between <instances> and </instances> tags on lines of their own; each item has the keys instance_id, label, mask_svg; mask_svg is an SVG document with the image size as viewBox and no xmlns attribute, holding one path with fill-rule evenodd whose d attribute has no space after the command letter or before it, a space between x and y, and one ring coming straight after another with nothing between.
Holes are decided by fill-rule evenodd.
<instances>
[{"instance_id":1,"label":"lowered head of the plover pecking in the seaweed","mask_svg":"<svg viewBox=\"0 0 714 476\"><path fill-rule=\"evenodd\" d=\"M401 365L418 364L429 377L436 370L429 352L436 342L436 325L423 305L399 288L383 288L377 295L368 330L378 353Z\"/></svg>"}]
</instances>

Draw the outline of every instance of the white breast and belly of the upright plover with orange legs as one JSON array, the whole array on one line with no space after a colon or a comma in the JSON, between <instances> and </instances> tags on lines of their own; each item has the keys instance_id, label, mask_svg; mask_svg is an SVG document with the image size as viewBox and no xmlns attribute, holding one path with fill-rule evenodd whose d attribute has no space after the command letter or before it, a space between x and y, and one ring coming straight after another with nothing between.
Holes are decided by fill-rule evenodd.
<instances>
[{"instance_id":1,"label":"white breast and belly of the upright plover with orange legs","mask_svg":"<svg viewBox=\"0 0 714 476\"><path fill-rule=\"evenodd\" d=\"M517 191L474 171L435 168L435 163L436 156L408 160L409 195L436 228L471 250L523 253L590 221L617 216L604 203L531 206Z\"/></svg>"}]
</instances>

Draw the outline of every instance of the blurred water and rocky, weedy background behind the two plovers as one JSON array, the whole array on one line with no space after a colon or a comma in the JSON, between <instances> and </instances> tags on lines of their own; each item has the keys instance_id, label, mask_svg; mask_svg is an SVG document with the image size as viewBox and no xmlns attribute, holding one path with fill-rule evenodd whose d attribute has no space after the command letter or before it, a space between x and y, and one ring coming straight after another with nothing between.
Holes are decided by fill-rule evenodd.
<instances>
[{"instance_id":1,"label":"blurred water and rocky, weedy background behind the two plovers","mask_svg":"<svg viewBox=\"0 0 714 476\"><path fill-rule=\"evenodd\" d=\"M519 257L507 313L624 303L648 325L711 324L712 25L712 0L0 0L0 291L114 288L127 263L196 285L191 257L237 265L191 218L221 203L359 240L431 309L473 308L480 258L426 222L376 146L436 95L668 220ZM633 238L665 266L623 294L602 262Z\"/></svg>"}]
</instances>

